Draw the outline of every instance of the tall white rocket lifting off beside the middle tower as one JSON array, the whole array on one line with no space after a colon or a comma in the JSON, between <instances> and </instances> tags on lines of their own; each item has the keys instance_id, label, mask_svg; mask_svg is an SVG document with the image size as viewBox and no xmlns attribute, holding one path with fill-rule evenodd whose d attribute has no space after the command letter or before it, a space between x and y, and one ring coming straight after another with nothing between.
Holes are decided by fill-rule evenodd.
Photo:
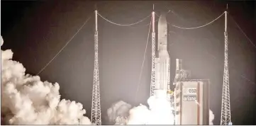
<instances>
[{"instance_id":1,"label":"tall white rocket lifting off beside the middle tower","mask_svg":"<svg viewBox=\"0 0 256 126\"><path fill-rule=\"evenodd\" d=\"M168 96L169 85L169 53L167 51L167 20L166 15L161 14L158 21L158 40L156 50L155 94Z\"/></svg>"}]
</instances>

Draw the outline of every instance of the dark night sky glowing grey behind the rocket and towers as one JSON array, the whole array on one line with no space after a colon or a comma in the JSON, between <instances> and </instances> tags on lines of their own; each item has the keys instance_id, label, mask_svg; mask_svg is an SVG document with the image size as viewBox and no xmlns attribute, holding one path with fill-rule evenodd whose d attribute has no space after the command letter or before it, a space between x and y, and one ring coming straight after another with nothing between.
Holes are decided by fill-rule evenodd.
<instances>
[{"instance_id":1,"label":"dark night sky glowing grey behind the rocket and towers","mask_svg":"<svg viewBox=\"0 0 256 126\"><path fill-rule=\"evenodd\" d=\"M194 27L221 15L227 2L98 1L97 8L109 20L126 24L148 16L153 3L156 13L169 9L174 11L175 14L167 15L169 23ZM94 68L94 4L71 0L1 1L2 48L13 50L13 59L21 62L29 74L37 74L91 16L65 50L40 74L43 81L60 84L62 98L82 103L89 117ZM234 125L256 125L255 47L234 22L256 44L255 1L229 1L228 12L231 120ZM138 25L125 27L99 17L99 76L104 122L106 109L111 103L123 100L138 105L135 103L135 91L148 23L150 18ZM210 108L215 115L215 125L220 124L221 118L223 32L224 17L195 30L181 30L169 25L171 80L176 58L183 59L184 68L191 70L194 79L210 79ZM138 101L144 104L150 94L150 50L151 44L148 45L138 96Z\"/></svg>"}]
</instances>

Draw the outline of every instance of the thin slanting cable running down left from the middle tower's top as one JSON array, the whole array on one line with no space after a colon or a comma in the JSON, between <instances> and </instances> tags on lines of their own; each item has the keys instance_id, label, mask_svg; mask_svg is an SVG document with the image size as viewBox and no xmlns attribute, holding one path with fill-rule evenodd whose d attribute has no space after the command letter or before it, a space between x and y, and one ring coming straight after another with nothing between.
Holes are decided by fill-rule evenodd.
<instances>
[{"instance_id":1,"label":"thin slanting cable running down left from the middle tower's top","mask_svg":"<svg viewBox=\"0 0 256 126\"><path fill-rule=\"evenodd\" d=\"M150 21L150 28L151 28L151 23L152 23L152 20ZM148 39L150 38L150 28L148 29ZM138 81L137 90L135 93L135 102L137 101L137 94L138 94L138 91L140 88L140 80L141 80L141 76L143 74L143 67L144 67L145 57L146 57L146 53L147 53L147 49L148 49L148 39L147 39L147 43L146 43L146 47L145 47L145 51L144 51L143 64L141 65L141 68L140 68L140 77L139 77L139 81Z\"/></svg>"}]
</instances>

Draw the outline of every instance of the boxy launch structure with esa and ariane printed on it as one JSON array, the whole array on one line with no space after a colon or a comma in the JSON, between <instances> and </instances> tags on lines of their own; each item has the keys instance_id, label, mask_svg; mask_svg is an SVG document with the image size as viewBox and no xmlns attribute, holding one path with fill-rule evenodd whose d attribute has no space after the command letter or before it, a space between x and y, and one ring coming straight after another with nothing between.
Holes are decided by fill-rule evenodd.
<instances>
[{"instance_id":1,"label":"boxy launch structure with esa and ariane printed on it","mask_svg":"<svg viewBox=\"0 0 256 126\"><path fill-rule=\"evenodd\" d=\"M177 81L175 125L209 125L208 80Z\"/></svg>"}]
</instances>

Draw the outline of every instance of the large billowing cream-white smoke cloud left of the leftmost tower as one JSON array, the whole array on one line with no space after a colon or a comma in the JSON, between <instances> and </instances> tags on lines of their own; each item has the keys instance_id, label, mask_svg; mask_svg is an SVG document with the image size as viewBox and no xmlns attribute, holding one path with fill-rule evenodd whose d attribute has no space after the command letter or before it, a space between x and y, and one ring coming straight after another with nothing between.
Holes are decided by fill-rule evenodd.
<instances>
[{"instance_id":1,"label":"large billowing cream-white smoke cloud left of the leftmost tower","mask_svg":"<svg viewBox=\"0 0 256 126\"><path fill-rule=\"evenodd\" d=\"M11 50L1 50L1 119L6 124L91 125L81 103L60 101L59 84L25 74L12 57Z\"/></svg>"}]
</instances>

